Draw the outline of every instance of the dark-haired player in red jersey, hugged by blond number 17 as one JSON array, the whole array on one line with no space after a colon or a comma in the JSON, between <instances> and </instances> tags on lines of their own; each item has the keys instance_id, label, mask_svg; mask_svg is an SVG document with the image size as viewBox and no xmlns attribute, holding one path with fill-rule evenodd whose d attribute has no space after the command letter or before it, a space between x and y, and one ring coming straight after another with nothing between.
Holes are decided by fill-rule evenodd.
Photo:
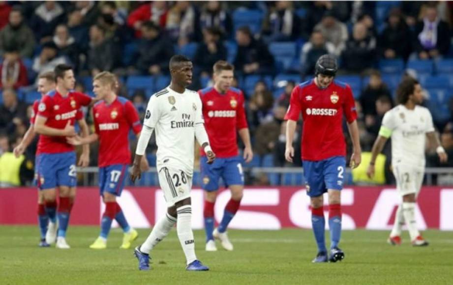
<instances>
[{"instance_id":1,"label":"dark-haired player in red jersey, hugged by blond number 17","mask_svg":"<svg viewBox=\"0 0 453 285\"><path fill-rule=\"evenodd\" d=\"M82 106L95 98L72 91L75 85L74 72L65 64L55 67L56 89L44 95L38 104L34 131L40 134L36 156L36 181L43 193L44 204L50 223L46 242L55 242L57 215L59 228L57 248L68 249L66 230L76 193L76 154L74 146L65 137L75 136L74 123ZM88 133L86 134L88 135ZM82 157L82 165L88 165L88 155ZM60 205L56 211L56 187L60 190Z\"/></svg>"}]
</instances>

